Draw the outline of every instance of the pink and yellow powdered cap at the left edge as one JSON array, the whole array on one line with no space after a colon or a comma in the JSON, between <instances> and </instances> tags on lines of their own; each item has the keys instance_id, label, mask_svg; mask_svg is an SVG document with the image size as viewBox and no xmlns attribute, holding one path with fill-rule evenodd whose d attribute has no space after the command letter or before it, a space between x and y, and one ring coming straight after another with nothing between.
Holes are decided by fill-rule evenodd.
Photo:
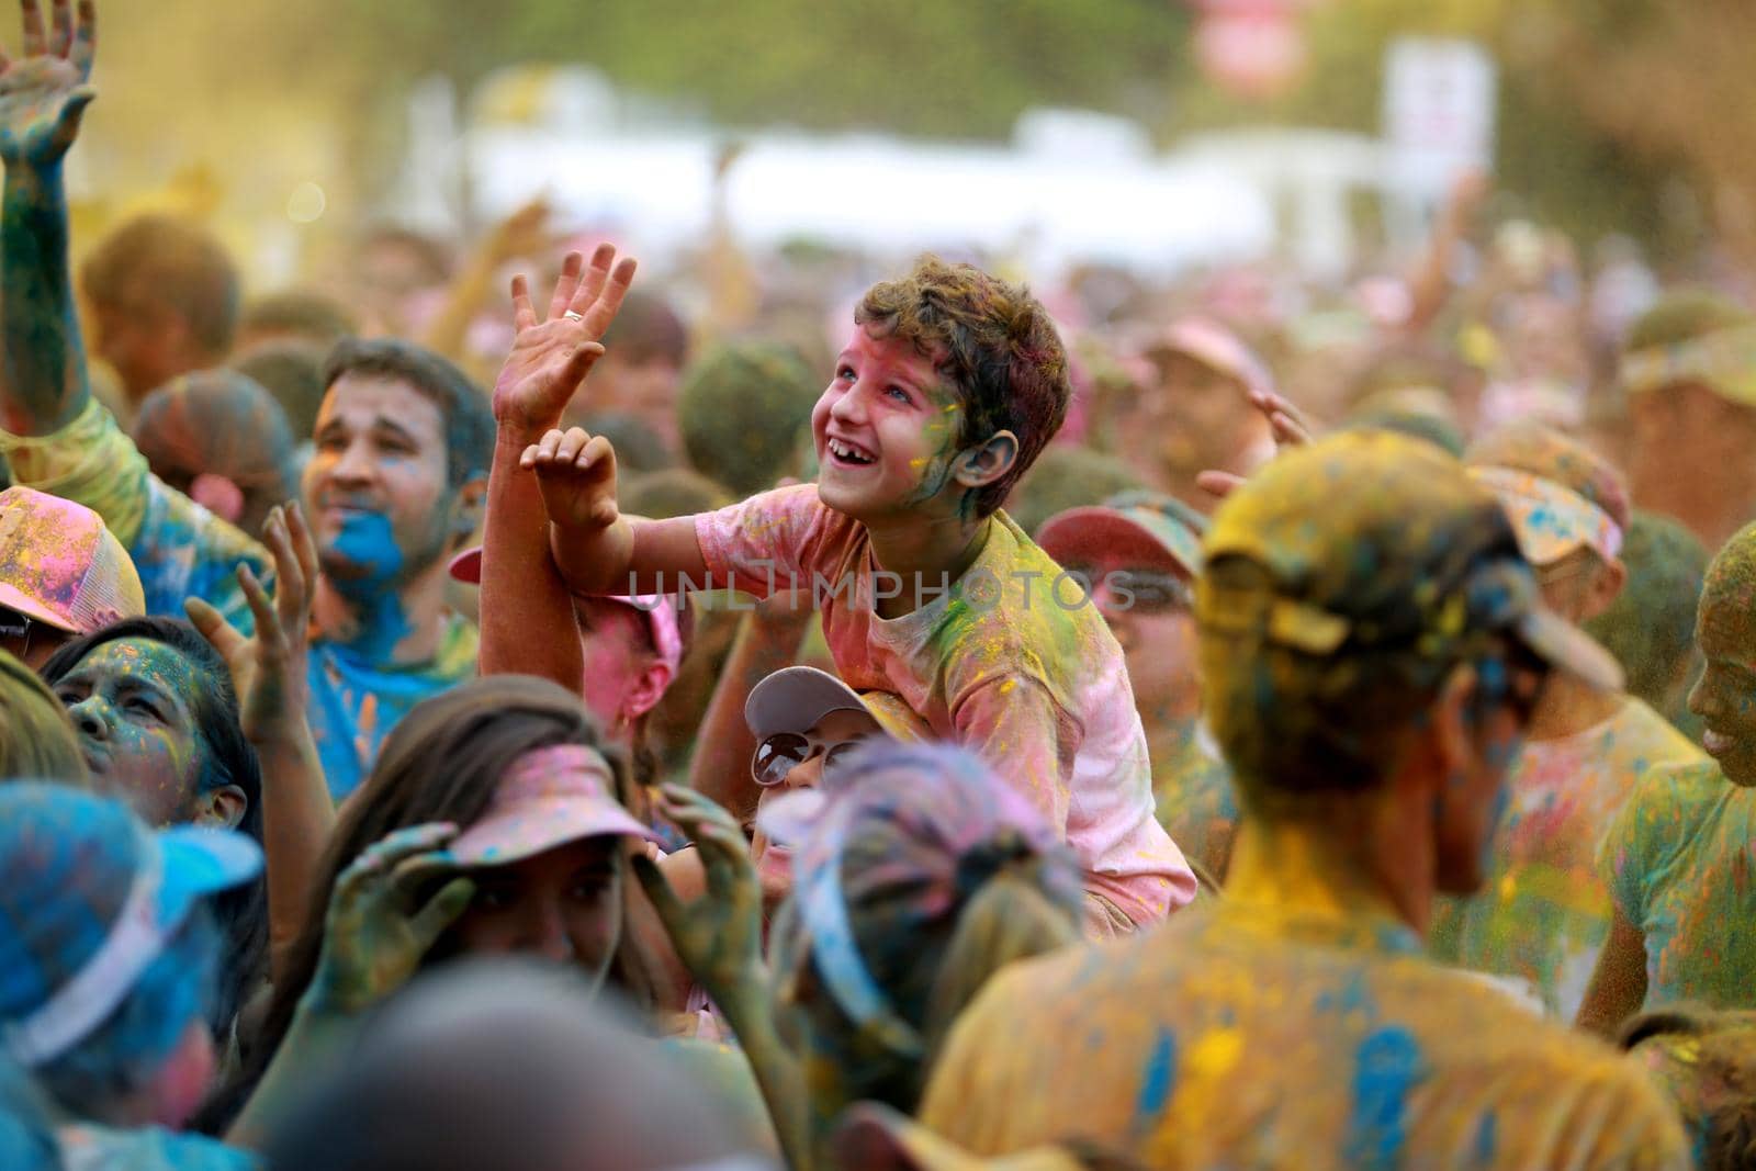
<instances>
[{"instance_id":1,"label":"pink and yellow powdered cap at the left edge","mask_svg":"<svg viewBox=\"0 0 1756 1171\"><path fill-rule=\"evenodd\" d=\"M104 518L35 488L0 492L0 606L72 634L146 614L133 560Z\"/></svg>"}]
</instances>

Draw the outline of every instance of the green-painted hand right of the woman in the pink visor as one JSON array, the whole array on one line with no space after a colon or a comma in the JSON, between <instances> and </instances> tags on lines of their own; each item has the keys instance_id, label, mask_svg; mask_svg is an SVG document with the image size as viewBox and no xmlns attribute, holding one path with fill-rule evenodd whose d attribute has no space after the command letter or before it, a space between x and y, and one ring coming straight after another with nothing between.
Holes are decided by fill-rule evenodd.
<instances>
[{"instance_id":1,"label":"green-painted hand right of the woman in the pink visor","mask_svg":"<svg viewBox=\"0 0 1756 1171\"><path fill-rule=\"evenodd\" d=\"M701 851L708 892L683 902L644 857L634 858L634 873L658 911L678 959L708 995L727 1011L760 1006L767 999L762 885L750 862L750 843L732 815L701 794L681 785L664 785L658 794L658 811L676 822Z\"/></svg>"}]
</instances>

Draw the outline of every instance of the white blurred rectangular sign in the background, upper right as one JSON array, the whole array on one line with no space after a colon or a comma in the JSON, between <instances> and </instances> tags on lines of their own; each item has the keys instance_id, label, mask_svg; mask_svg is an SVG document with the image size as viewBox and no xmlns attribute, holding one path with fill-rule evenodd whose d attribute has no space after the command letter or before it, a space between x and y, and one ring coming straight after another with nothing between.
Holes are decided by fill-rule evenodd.
<instances>
[{"instance_id":1,"label":"white blurred rectangular sign in the background, upper right","mask_svg":"<svg viewBox=\"0 0 1756 1171\"><path fill-rule=\"evenodd\" d=\"M1384 61L1384 137L1401 186L1442 198L1494 162L1494 60L1473 40L1405 37Z\"/></svg>"}]
</instances>

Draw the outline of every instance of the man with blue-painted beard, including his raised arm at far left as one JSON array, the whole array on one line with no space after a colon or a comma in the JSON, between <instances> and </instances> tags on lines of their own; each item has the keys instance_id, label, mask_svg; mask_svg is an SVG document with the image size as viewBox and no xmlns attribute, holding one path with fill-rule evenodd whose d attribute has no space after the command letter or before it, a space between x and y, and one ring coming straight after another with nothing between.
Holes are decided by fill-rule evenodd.
<instances>
[{"instance_id":1,"label":"man with blue-painted beard, including his raised arm at far left","mask_svg":"<svg viewBox=\"0 0 1756 1171\"><path fill-rule=\"evenodd\" d=\"M61 160L93 91L93 14L65 0L53 37L25 9L25 53L0 70L0 455L18 483L98 513L140 572L149 614L186 597L249 630L242 574L269 578L253 539L155 478L93 397L67 262ZM443 358L395 341L330 356L304 497L318 544L309 718L330 792L360 781L416 702L474 674L476 634L444 609L446 560L481 513L493 418Z\"/></svg>"}]
</instances>

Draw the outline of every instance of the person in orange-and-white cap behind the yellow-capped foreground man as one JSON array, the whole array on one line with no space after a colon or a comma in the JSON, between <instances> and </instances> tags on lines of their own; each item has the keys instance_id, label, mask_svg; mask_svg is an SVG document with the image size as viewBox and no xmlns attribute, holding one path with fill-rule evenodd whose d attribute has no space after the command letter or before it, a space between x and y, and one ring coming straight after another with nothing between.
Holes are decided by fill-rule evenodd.
<instances>
[{"instance_id":1,"label":"person in orange-and-white cap behind the yellow-capped foreground man","mask_svg":"<svg viewBox=\"0 0 1756 1171\"><path fill-rule=\"evenodd\" d=\"M1573 623L1608 609L1626 579L1619 553L1631 509L1621 472L1536 425L1487 434L1468 463L1500 497L1549 607ZM1549 1013L1573 1020L1612 925L1600 843L1640 778L1703 760L1642 700L1552 679L1512 762L1487 883L1443 906L1433 953L1515 981Z\"/></svg>"}]
</instances>

